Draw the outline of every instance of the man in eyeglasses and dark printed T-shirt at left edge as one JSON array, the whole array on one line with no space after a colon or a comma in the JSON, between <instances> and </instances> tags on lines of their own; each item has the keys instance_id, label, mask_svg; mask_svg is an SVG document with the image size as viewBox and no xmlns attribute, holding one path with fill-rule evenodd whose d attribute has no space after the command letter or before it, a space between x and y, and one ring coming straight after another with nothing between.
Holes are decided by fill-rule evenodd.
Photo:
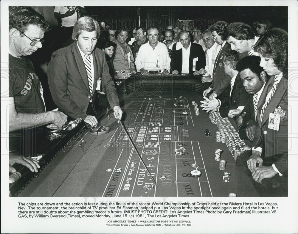
<instances>
[{"instance_id":1,"label":"man in eyeglasses and dark printed T-shirt at left edge","mask_svg":"<svg viewBox=\"0 0 298 234\"><path fill-rule=\"evenodd\" d=\"M46 111L43 89L32 62L27 59L42 47L44 32L50 24L31 7L9 7L9 149L10 166L23 164L37 172L38 161L24 156L34 155L45 128L61 129L67 116ZM10 167L10 172L15 169Z\"/></svg>"}]
</instances>

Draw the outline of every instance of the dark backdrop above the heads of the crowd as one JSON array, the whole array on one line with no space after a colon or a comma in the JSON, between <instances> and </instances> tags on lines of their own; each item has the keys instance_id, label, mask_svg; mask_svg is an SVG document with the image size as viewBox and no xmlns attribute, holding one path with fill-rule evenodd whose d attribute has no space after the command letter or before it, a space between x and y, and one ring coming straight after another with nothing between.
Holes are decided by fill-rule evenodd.
<instances>
[{"instance_id":1,"label":"dark backdrop above the heads of the crowd","mask_svg":"<svg viewBox=\"0 0 298 234\"><path fill-rule=\"evenodd\" d=\"M269 20L272 27L283 28L288 31L288 7L287 6L121 6L121 7L90 7L85 6L87 15L99 22L111 24L117 29L125 26L132 30L139 22L137 9L140 8L141 26L161 27L165 29L169 25L176 26L178 19L194 20L194 26L206 30L218 20L228 23L243 22L252 25L258 20Z\"/></svg>"}]
</instances>

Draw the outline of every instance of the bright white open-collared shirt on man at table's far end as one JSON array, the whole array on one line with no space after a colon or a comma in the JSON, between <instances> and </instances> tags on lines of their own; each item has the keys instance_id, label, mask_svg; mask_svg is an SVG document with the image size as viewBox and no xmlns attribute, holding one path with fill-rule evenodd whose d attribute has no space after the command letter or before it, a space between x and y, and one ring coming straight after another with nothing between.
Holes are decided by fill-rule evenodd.
<instances>
[{"instance_id":1,"label":"bright white open-collared shirt on man at table's far end","mask_svg":"<svg viewBox=\"0 0 298 234\"><path fill-rule=\"evenodd\" d=\"M157 42L156 47L147 43L141 45L139 48L139 53L136 56L136 70L139 72L140 69L144 68L148 71L158 71L163 72L164 69L170 71L171 59L167 50L167 46L162 42Z\"/></svg>"}]
</instances>

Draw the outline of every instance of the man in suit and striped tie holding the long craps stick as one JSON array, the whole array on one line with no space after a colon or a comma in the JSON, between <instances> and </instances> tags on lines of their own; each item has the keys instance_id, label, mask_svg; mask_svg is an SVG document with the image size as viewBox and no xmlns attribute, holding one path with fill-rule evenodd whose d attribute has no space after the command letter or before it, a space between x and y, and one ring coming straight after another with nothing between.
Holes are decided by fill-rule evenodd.
<instances>
[{"instance_id":1,"label":"man in suit and striped tie holding the long craps stick","mask_svg":"<svg viewBox=\"0 0 298 234\"><path fill-rule=\"evenodd\" d=\"M55 51L48 66L49 88L56 105L69 117L80 117L91 127L97 125L97 92L106 94L116 118L122 116L105 53L95 48L99 35L97 21L81 17L72 32L75 42Z\"/></svg>"}]
</instances>

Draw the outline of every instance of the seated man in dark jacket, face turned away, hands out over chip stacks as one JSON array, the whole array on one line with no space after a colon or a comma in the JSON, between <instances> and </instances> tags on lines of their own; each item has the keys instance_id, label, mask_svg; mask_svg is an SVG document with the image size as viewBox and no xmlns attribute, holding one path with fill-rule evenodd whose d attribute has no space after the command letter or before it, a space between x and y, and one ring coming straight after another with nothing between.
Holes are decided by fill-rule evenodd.
<instances>
[{"instance_id":1,"label":"seated man in dark jacket, face turned away, hands out over chip stacks","mask_svg":"<svg viewBox=\"0 0 298 234\"><path fill-rule=\"evenodd\" d=\"M228 88L231 90L229 97L219 99L205 98L205 101L201 101L201 103L203 103L201 107L203 107L203 110L218 111L221 117L224 118L228 117L229 110L231 109L237 108L239 111L243 110L249 94L245 91L238 71L236 70L238 54L231 49L225 50L223 61L226 75L232 77L230 82L232 89Z\"/></svg>"}]
</instances>

